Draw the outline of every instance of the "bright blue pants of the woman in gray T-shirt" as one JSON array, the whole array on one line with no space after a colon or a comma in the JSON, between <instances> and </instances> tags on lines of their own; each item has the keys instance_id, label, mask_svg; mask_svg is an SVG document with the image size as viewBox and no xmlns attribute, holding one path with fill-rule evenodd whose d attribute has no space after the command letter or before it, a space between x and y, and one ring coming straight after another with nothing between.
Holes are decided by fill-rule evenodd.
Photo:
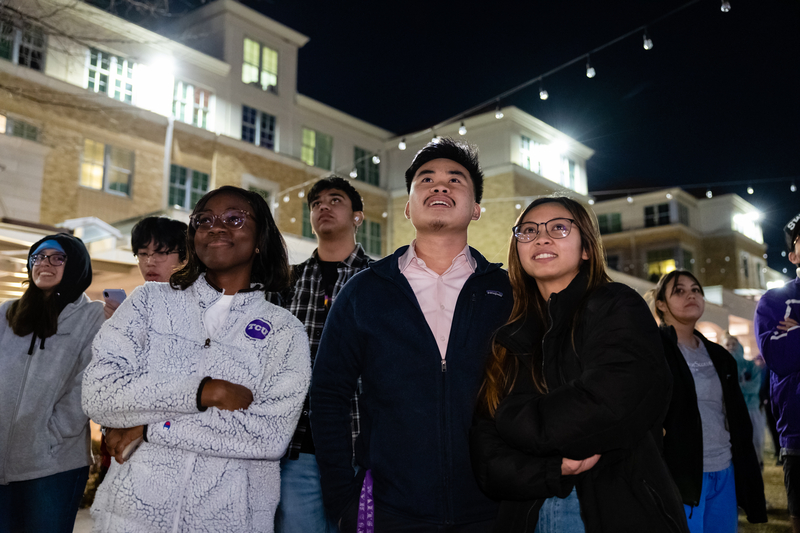
<instances>
[{"instance_id":1,"label":"bright blue pants of the woman in gray T-shirt","mask_svg":"<svg viewBox=\"0 0 800 533\"><path fill-rule=\"evenodd\" d=\"M736 533L739 511L733 465L719 472L703 472L703 490L697 507L684 505L691 533Z\"/></svg>"}]
</instances>

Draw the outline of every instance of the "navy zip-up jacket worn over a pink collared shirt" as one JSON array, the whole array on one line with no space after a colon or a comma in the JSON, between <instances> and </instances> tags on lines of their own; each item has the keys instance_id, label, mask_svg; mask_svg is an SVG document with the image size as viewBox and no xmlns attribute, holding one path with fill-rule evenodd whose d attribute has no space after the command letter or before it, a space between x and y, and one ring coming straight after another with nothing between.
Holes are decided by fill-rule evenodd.
<instances>
[{"instance_id":1,"label":"navy zip-up jacket worn over a pink collared shirt","mask_svg":"<svg viewBox=\"0 0 800 533\"><path fill-rule=\"evenodd\" d=\"M325 323L311 385L311 430L330 518L357 504L366 469L377 507L431 524L491 520L472 474L469 428L494 332L511 313L508 274L477 262L458 296L443 364L398 266L407 246L354 276ZM354 476L350 398L362 380Z\"/></svg>"}]
</instances>

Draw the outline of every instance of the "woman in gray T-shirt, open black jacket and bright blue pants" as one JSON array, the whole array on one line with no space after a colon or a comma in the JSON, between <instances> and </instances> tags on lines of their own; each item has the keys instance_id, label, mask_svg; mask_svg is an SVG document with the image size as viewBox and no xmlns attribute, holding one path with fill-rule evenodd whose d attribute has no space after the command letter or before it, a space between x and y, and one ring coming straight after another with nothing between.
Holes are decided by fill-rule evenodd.
<instances>
[{"instance_id":1,"label":"woman in gray T-shirt, open black jacket and bright blue pants","mask_svg":"<svg viewBox=\"0 0 800 533\"><path fill-rule=\"evenodd\" d=\"M705 311L691 272L665 274L649 293L672 371L664 458L681 492L692 533L735 533L737 506L767 521L764 481L736 361L695 329Z\"/></svg>"}]
</instances>

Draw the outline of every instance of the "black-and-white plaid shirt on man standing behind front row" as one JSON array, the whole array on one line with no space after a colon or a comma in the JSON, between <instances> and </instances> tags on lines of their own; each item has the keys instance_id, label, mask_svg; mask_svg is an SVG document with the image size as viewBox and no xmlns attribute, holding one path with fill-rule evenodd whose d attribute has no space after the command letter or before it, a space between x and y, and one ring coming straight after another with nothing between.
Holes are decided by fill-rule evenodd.
<instances>
[{"instance_id":1,"label":"black-and-white plaid shirt on man standing behind front row","mask_svg":"<svg viewBox=\"0 0 800 533\"><path fill-rule=\"evenodd\" d=\"M317 356L317 348L319 347L319 339L322 336L322 328L325 325L325 319L328 316L328 310L333 305L336 296L347 280L352 278L357 272L367 268L372 262L369 256L361 248L360 244L356 244L355 250L350 254L350 257L339 263L337 270L339 277L336 284L333 286L333 294L330 295L330 301L326 302L325 287L322 286L322 269L319 266L319 255L314 250L311 258L307 261L295 265L293 267L292 287L289 293L283 295L283 302L286 309L288 309L294 316L303 323L306 327L308 334L308 341L311 345L311 366L314 366L314 359ZM353 394L353 399L350 401L351 415L352 415L352 432L353 442L355 443L356 437L360 432L359 412L358 412L358 394L361 389L361 380L358 382L358 389ZM303 404L303 413L300 415L300 421L297 423L297 429L292 436L292 442L289 444L289 458L297 459L300 455L300 447L303 443L306 431L309 429L308 422L308 395L306 395L305 403Z\"/></svg>"}]
</instances>

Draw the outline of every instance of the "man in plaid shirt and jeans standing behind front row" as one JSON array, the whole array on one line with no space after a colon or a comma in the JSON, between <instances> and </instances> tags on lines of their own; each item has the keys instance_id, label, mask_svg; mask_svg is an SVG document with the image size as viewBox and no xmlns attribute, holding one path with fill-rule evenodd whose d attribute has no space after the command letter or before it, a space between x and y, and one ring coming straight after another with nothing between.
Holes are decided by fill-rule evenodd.
<instances>
[{"instance_id":1,"label":"man in plaid shirt and jeans standing behind front row","mask_svg":"<svg viewBox=\"0 0 800 533\"><path fill-rule=\"evenodd\" d=\"M306 196L317 249L307 261L294 266L292 287L282 295L284 306L306 327L311 364L317 354L322 328L336 295L370 258L355 242L364 221L363 201L350 183L338 176L322 179ZM353 440L358 436L358 391L352 406ZM275 515L276 533L336 532L325 517L319 468L308 421L308 397L287 456L281 461L281 502Z\"/></svg>"}]
</instances>

